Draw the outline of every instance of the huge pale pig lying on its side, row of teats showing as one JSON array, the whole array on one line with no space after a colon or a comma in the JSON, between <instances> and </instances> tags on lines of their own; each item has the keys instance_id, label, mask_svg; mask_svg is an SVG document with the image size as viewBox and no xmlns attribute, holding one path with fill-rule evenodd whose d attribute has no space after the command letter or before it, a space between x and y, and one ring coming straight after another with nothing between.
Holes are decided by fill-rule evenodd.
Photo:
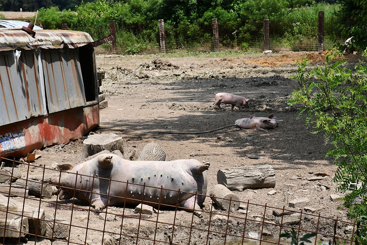
<instances>
[{"instance_id":1,"label":"huge pale pig lying on its side, row of teats showing","mask_svg":"<svg viewBox=\"0 0 367 245\"><path fill-rule=\"evenodd\" d=\"M76 165L69 173L62 173L60 181L55 177L52 183L67 187L62 188L59 199L70 199L75 192L75 198L89 202L96 210L126 201L127 204L145 203L150 206L178 204L191 211L195 209L194 213L201 216L198 210L207 191L205 170L208 167L209 163L203 164L194 159L128 161L115 154L101 154ZM195 192L201 195L195 195Z\"/></svg>"}]
</instances>

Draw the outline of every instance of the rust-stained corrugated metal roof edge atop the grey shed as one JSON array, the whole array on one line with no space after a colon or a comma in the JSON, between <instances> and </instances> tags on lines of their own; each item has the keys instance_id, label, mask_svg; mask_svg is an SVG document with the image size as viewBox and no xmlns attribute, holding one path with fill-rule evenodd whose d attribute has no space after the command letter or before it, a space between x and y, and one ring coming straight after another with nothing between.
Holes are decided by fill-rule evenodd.
<instances>
[{"instance_id":1,"label":"rust-stained corrugated metal roof edge atop the grey shed","mask_svg":"<svg viewBox=\"0 0 367 245\"><path fill-rule=\"evenodd\" d=\"M93 42L92 37L86 32L72 30L33 30L36 35L32 37L23 30L0 29L0 51L14 50L15 48L69 48L84 46Z\"/></svg>"}]
</instances>

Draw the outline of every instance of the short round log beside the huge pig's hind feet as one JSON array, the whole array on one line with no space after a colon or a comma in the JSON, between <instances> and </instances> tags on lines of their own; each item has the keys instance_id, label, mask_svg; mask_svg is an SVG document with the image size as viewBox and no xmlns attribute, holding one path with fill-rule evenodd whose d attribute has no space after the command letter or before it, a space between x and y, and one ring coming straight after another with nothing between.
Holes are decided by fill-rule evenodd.
<instances>
[{"instance_id":1,"label":"short round log beside the huge pig's hind feet","mask_svg":"<svg viewBox=\"0 0 367 245\"><path fill-rule=\"evenodd\" d=\"M240 198L222 184L214 185L209 191L215 204L222 210L236 211L240 207ZM213 198L214 196L214 198ZM229 206L230 203L230 206Z\"/></svg>"}]
</instances>

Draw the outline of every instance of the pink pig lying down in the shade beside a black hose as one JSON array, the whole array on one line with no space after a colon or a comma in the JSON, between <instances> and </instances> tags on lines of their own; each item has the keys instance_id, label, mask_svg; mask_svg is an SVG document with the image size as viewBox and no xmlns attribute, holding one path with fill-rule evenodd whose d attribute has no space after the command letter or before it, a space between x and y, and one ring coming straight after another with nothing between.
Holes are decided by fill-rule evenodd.
<instances>
[{"instance_id":1,"label":"pink pig lying down in the shade beside a black hose","mask_svg":"<svg viewBox=\"0 0 367 245\"><path fill-rule=\"evenodd\" d=\"M235 125L238 125L241 129L255 129L267 132L268 129L274 129L277 127L278 121L273 119L273 114L270 114L268 118L251 115L250 118L237 119Z\"/></svg>"}]
</instances>

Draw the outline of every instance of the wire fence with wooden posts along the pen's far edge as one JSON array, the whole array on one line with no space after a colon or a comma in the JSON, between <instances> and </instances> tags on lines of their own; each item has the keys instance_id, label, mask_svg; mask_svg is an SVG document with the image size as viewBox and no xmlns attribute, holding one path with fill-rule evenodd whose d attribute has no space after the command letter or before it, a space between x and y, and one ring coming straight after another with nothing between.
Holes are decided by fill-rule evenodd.
<instances>
[{"instance_id":1,"label":"wire fence with wooden posts along the pen's far edge","mask_svg":"<svg viewBox=\"0 0 367 245\"><path fill-rule=\"evenodd\" d=\"M346 18L348 19L348 18ZM214 19L213 19L214 20ZM310 16L280 23L265 19L237 20L235 24L215 19L190 25L165 23L163 19L123 26L116 22L115 44L97 49L117 54L177 53L185 51L324 51L344 44L334 16ZM265 25L267 21L268 24ZM114 30L115 31L115 30ZM116 48L114 48L116 45ZM113 53L113 52L112 52Z\"/></svg>"}]
</instances>

